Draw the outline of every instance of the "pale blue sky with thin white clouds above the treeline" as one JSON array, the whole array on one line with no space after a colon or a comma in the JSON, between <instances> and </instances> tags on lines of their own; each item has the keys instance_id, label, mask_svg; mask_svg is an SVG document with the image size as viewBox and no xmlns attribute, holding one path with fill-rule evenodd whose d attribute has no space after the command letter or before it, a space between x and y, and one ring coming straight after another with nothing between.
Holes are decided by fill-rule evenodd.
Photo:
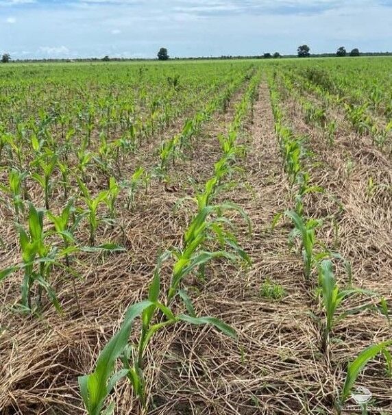
<instances>
[{"instance_id":1,"label":"pale blue sky with thin white clouds above the treeline","mask_svg":"<svg viewBox=\"0 0 392 415\"><path fill-rule=\"evenodd\" d=\"M0 0L12 58L392 51L392 0Z\"/></svg>"}]
</instances>

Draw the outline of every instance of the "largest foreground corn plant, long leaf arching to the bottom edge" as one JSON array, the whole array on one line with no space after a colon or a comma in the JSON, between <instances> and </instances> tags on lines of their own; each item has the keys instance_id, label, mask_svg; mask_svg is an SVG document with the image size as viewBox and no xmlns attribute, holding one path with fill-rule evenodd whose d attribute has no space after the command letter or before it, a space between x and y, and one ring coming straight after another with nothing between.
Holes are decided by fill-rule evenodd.
<instances>
[{"instance_id":1,"label":"largest foreground corn plant, long leaf arching to the bottom edge","mask_svg":"<svg viewBox=\"0 0 392 415\"><path fill-rule=\"evenodd\" d=\"M115 384L123 377L130 380L140 405L143 410L147 411L148 401L143 375L145 350L154 334L164 329L164 327L180 322L193 325L212 325L223 334L236 338L234 329L217 318L196 317L193 314L193 308L191 315L180 314L176 316L169 307L158 301L160 296L160 262L164 259L164 256L158 260L158 266L149 288L148 299L132 305L127 310L119 331L101 351L94 372L79 377L79 388L88 415L99 415L102 411L104 414L113 412L114 402L106 407L106 401ZM160 313L165 318L162 321L159 320ZM132 324L138 316L141 316L142 322L140 336L136 344L130 345L128 342ZM123 368L114 373L119 358L121 358Z\"/></svg>"}]
</instances>

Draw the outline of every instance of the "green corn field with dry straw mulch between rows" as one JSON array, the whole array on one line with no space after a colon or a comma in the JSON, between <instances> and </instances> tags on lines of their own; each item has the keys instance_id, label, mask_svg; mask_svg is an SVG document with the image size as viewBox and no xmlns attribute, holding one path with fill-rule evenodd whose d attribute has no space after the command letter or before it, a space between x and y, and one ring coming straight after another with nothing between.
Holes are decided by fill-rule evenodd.
<instances>
[{"instance_id":1,"label":"green corn field with dry straw mulch between rows","mask_svg":"<svg viewBox=\"0 0 392 415\"><path fill-rule=\"evenodd\" d=\"M392 413L391 58L0 91L1 414Z\"/></svg>"}]
</instances>

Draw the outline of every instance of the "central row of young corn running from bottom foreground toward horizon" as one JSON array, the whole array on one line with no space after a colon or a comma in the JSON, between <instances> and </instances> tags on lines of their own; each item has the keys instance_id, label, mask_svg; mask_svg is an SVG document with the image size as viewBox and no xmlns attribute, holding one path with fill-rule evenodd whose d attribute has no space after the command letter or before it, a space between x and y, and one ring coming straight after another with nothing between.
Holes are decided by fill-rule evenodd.
<instances>
[{"instance_id":1,"label":"central row of young corn running from bottom foreground toward horizon","mask_svg":"<svg viewBox=\"0 0 392 415\"><path fill-rule=\"evenodd\" d=\"M127 377L130 381L141 407L147 411L149 401L146 395L146 379L143 375L145 350L152 336L158 331L181 322L193 325L210 324L223 334L236 338L234 329L221 320L196 315L184 281L191 273L197 273L201 281L205 279L206 265L216 258L241 264L249 263L249 257L231 231L234 224L225 216L225 212L230 210L240 212L250 226L247 215L233 203L216 203L215 199L223 189L223 180L232 171L235 155L238 154L238 134L245 115L249 108L252 108L259 81L260 73L249 81L247 91L236 107L228 135L219 137L223 154L215 164L212 177L206 181L203 190L197 192L193 199L197 210L184 231L182 247L173 247L160 255L147 299L132 305L127 310L119 331L99 354L93 373L79 377L80 392L89 415L98 415L102 411L109 414L114 410L114 401L109 405L106 403L115 384L123 377ZM169 257L174 263L171 267L169 288L164 293L160 284L162 264ZM184 303L187 314L175 314L173 311L177 298ZM129 344L132 323L139 316L140 334L134 344ZM117 360L121 362L121 368L116 371Z\"/></svg>"}]
</instances>

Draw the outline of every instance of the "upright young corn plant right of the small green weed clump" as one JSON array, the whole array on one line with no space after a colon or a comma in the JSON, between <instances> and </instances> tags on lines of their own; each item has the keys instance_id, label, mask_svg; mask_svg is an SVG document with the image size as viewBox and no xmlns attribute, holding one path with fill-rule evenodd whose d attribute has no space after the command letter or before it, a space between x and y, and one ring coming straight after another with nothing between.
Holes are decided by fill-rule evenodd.
<instances>
[{"instance_id":1,"label":"upright young corn plant right of the small green weed clump","mask_svg":"<svg viewBox=\"0 0 392 415\"><path fill-rule=\"evenodd\" d=\"M323 309L325 312L325 322L323 323L323 328L321 329L321 351L325 353L330 341L330 334L332 333L336 323L339 323L340 320L343 320L347 316L373 308L373 305L365 304L351 309L346 308L345 311L336 315L336 312L339 310L342 303L356 294L365 294L370 297L375 294L369 290L362 290L360 288L340 290L339 286L336 284L332 261L330 260L323 260L320 264L318 264L318 268L319 294L321 295Z\"/></svg>"}]
</instances>

